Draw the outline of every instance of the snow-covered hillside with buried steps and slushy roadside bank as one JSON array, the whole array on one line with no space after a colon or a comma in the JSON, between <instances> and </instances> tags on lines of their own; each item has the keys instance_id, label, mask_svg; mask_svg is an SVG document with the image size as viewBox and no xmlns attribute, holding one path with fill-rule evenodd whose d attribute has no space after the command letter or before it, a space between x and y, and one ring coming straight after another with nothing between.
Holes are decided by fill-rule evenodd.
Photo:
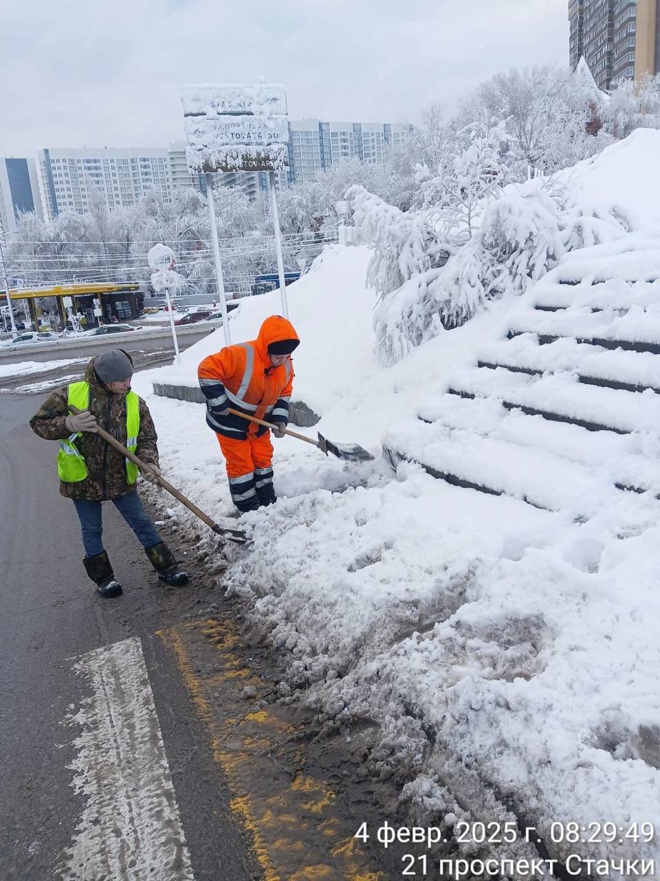
<instances>
[{"instance_id":1,"label":"snow-covered hillside with buried steps and slushy roadside bank","mask_svg":"<svg viewBox=\"0 0 660 881\"><path fill-rule=\"evenodd\" d=\"M626 151L648 173L659 138L635 133L573 181L616 203ZM221 580L290 652L287 700L366 744L371 774L399 775L416 822L517 818L564 859L658 856L626 835L660 828L660 239L639 216L642 233L568 255L388 369L367 250L327 249L288 289L294 398L326 436L387 456L275 441L280 500L243 518L253 542ZM233 340L279 311L276 292L244 300ZM231 502L203 408L150 380L194 385L222 344L217 330L135 381L165 475L218 516ZM605 821L624 832L576 845L551 829Z\"/></svg>"}]
</instances>

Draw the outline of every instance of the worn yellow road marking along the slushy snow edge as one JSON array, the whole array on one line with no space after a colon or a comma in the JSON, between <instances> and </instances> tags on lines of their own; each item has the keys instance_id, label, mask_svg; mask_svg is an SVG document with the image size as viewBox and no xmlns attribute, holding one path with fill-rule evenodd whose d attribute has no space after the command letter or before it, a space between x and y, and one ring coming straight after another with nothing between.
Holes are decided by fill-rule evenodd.
<instances>
[{"instance_id":1,"label":"worn yellow road marking along the slushy snow edge","mask_svg":"<svg viewBox=\"0 0 660 881\"><path fill-rule=\"evenodd\" d=\"M202 634L222 670L202 679L187 643ZM266 881L386 881L371 870L359 842L347 838L336 816L337 796L326 781L304 771L303 727L242 697L246 684L259 697L272 691L238 654L243 648L231 622L206 619L158 632L176 656L194 706L209 732L214 760L232 793L231 811L248 834ZM221 706L210 695L219 692ZM282 751L279 756L278 752ZM286 768L295 768L287 773Z\"/></svg>"}]
</instances>

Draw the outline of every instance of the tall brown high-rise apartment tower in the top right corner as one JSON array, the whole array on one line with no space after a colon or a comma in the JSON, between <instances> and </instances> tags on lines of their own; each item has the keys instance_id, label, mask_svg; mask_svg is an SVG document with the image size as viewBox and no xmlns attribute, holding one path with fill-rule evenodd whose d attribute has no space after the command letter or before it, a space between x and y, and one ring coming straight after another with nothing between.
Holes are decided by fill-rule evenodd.
<instances>
[{"instance_id":1,"label":"tall brown high-rise apartment tower in the top right corner","mask_svg":"<svg viewBox=\"0 0 660 881\"><path fill-rule=\"evenodd\" d=\"M568 21L571 68L584 56L599 89L660 70L660 0L569 0Z\"/></svg>"}]
</instances>

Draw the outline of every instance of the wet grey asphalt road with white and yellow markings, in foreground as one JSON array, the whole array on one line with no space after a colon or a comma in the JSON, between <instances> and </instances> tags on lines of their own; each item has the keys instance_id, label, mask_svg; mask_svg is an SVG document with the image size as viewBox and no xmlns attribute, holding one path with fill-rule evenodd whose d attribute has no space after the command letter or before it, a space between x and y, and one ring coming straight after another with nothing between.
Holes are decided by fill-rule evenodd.
<instances>
[{"instance_id":1,"label":"wet grey asphalt road with white and yellow markings, in foreground","mask_svg":"<svg viewBox=\"0 0 660 881\"><path fill-rule=\"evenodd\" d=\"M212 534L158 526L193 576L165 589L106 504L124 595L97 596L56 445L28 426L43 396L0 396L0 881L400 877L411 845L353 840L400 814L364 766L378 726L279 705L290 657L241 629Z\"/></svg>"}]
</instances>

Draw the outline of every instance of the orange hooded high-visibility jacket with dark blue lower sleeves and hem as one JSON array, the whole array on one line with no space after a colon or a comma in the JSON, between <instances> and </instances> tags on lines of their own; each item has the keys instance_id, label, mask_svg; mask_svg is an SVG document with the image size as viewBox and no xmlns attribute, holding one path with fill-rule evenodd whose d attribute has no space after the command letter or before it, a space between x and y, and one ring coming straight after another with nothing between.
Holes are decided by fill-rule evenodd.
<instances>
[{"instance_id":1,"label":"orange hooded high-visibility jacket with dark blue lower sleeves and hem","mask_svg":"<svg viewBox=\"0 0 660 881\"><path fill-rule=\"evenodd\" d=\"M202 361L197 375L206 396L207 425L214 432L240 439L247 433L261 435L268 430L239 416L220 416L227 407L267 422L287 424L293 364L288 359L274 367L268 358L268 346L285 339L298 339L293 325L281 315L270 315L256 339L228 345Z\"/></svg>"}]
</instances>

